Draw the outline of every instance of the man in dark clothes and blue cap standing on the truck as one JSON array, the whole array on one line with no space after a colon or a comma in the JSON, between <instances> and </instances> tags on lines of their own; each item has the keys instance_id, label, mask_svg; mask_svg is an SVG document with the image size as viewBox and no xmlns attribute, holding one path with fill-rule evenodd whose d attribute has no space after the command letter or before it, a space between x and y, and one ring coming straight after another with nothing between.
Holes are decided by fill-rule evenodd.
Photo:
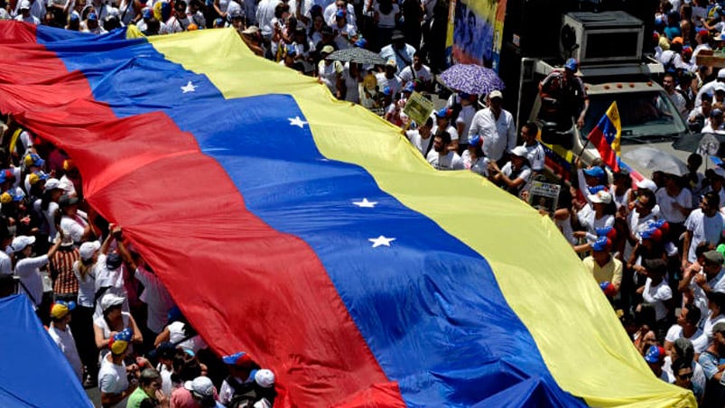
<instances>
[{"instance_id":1,"label":"man in dark clothes and blue cap standing on the truck","mask_svg":"<svg viewBox=\"0 0 725 408\"><path fill-rule=\"evenodd\" d=\"M561 130L569 129L572 120L581 129L589 109L584 83L574 75L577 70L579 62L570 58L566 60L563 72L554 70L539 83L543 105L540 119L556 123Z\"/></svg>"}]
</instances>

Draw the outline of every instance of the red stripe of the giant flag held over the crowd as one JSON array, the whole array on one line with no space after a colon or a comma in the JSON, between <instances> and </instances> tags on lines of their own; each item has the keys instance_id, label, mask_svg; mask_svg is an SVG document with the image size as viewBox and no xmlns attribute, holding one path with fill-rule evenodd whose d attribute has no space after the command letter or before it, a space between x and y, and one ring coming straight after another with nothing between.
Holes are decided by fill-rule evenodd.
<instances>
[{"instance_id":1,"label":"red stripe of the giant flag held over the crowd","mask_svg":"<svg viewBox=\"0 0 725 408\"><path fill-rule=\"evenodd\" d=\"M209 344L271 368L277 406L404 405L311 247L247 211L192 134L161 113L117 118L34 27L2 27L17 41L0 46L0 108L70 153L88 201L124 227Z\"/></svg>"}]
</instances>

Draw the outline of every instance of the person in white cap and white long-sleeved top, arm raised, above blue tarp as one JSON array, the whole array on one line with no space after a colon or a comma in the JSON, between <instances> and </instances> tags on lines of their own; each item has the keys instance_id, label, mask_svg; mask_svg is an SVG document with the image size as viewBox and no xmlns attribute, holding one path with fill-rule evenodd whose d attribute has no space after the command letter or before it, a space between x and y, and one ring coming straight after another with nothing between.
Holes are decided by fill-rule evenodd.
<instances>
[{"instance_id":1,"label":"person in white cap and white long-sleeved top, arm raised, above blue tarp","mask_svg":"<svg viewBox=\"0 0 725 408\"><path fill-rule=\"evenodd\" d=\"M55 244L51 246L46 255L31 257L33 244L35 244L35 236L16 236L13 243L10 244L9 250L13 252L17 262L15 274L20 277L18 292L25 293L33 303L33 309L37 310L42 303L41 268L48 264L52 255L58 251L60 239L56 239Z\"/></svg>"}]
</instances>

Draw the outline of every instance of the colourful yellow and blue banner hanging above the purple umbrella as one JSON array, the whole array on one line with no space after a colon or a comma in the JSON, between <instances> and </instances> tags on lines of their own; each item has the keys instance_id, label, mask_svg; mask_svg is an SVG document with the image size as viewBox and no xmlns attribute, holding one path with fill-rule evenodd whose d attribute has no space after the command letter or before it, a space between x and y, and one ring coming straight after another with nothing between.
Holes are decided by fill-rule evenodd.
<instances>
[{"instance_id":1,"label":"colourful yellow and blue banner hanging above the purple umbrella","mask_svg":"<svg viewBox=\"0 0 725 408\"><path fill-rule=\"evenodd\" d=\"M452 0L447 44L453 62L498 72L505 15L506 0Z\"/></svg>"}]
</instances>

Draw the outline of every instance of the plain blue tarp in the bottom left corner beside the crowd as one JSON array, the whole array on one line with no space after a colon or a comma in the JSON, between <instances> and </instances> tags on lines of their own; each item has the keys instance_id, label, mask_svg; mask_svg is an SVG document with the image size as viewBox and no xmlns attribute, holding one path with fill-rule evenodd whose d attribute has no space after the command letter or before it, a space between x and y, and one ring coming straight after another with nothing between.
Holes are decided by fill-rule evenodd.
<instances>
[{"instance_id":1,"label":"plain blue tarp in the bottom left corner beside the crowd","mask_svg":"<svg viewBox=\"0 0 725 408\"><path fill-rule=\"evenodd\" d=\"M0 299L0 365L0 407L93 406L23 295Z\"/></svg>"}]
</instances>

